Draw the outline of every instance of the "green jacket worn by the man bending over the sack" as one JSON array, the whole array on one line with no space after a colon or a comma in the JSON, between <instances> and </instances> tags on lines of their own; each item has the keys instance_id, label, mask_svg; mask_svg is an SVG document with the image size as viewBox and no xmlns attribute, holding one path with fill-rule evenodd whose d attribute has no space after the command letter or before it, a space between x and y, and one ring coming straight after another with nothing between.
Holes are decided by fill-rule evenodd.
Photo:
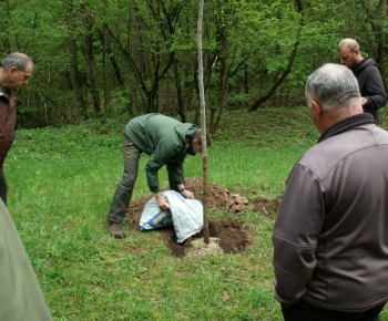
<instances>
[{"instance_id":1,"label":"green jacket worn by the man bending over the sack","mask_svg":"<svg viewBox=\"0 0 388 321\"><path fill-rule=\"evenodd\" d=\"M146 164L146 179L152 193L160 190L157 172L164 165L173 184L183 184L183 162L195 155L192 141L197 126L183 124L161 114L146 114L131 120L125 134L151 158Z\"/></svg>"}]
</instances>

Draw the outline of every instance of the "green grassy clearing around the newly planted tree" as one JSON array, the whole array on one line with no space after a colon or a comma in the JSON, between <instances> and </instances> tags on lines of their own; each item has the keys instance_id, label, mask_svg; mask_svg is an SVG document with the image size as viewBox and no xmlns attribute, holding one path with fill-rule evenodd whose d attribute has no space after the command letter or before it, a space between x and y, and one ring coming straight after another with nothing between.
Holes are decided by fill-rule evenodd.
<instances>
[{"instance_id":1,"label":"green grassy clearing around the newly planted tree","mask_svg":"<svg viewBox=\"0 0 388 321\"><path fill-rule=\"evenodd\" d=\"M173 257L157 231L129 234L126 220L127 237L110 237L127 121L20 130L6 161L8 208L54 320L283 320L273 290L273 218L246 211L248 251L202 259ZM305 107L227 112L208 149L208 180L248 199L253 190L280 198L292 166L318 136ZM152 196L146 161L133 199ZM185 175L202 176L201 155L187 156ZM165 169L160 178L166 186Z\"/></svg>"}]
</instances>

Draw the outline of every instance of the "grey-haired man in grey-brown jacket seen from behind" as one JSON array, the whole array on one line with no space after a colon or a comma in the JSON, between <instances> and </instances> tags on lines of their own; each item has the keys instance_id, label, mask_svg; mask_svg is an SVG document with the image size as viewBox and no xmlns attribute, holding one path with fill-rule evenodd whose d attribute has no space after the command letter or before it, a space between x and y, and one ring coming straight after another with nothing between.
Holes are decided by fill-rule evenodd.
<instances>
[{"instance_id":1,"label":"grey-haired man in grey-brown jacket seen from behind","mask_svg":"<svg viewBox=\"0 0 388 321\"><path fill-rule=\"evenodd\" d=\"M275 297L289 320L378 320L388 301L388 133L358 83L326 64L306 83L318 144L295 164L274 231Z\"/></svg>"}]
</instances>

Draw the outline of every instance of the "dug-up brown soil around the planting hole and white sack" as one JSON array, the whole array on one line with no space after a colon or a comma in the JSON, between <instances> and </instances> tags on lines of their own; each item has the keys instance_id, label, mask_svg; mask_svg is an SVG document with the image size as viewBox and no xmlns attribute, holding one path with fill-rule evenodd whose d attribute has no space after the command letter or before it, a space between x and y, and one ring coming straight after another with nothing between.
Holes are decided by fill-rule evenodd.
<instances>
[{"instance_id":1,"label":"dug-up brown soil around the planting hole and white sack","mask_svg":"<svg viewBox=\"0 0 388 321\"><path fill-rule=\"evenodd\" d=\"M232 194L226 188L222 188L214 183L207 184L207 205L208 208L216 208L233 214L227 219L212 219L208 221L210 237L216 240L214 249L217 253L238 253L245 251L251 245L249 228L241 221L241 215L245 209L261 211L267 216L274 216L279 205L278 200L270 200L264 197L256 197L249 203L246 197L238 194ZM200 177L185 180L185 188L194 194L196 199L203 200L203 179ZM140 231L139 225L145 204L151 197L143 197L131 201L127 218L130 229ZM182 244L176 242L174 228L159 229L172 253L176 257L185 256L193 250L195 240L203 238L202 231L190 237ZM218 250L219 249L219 250Z\"/></svg>"}]
</instances>

